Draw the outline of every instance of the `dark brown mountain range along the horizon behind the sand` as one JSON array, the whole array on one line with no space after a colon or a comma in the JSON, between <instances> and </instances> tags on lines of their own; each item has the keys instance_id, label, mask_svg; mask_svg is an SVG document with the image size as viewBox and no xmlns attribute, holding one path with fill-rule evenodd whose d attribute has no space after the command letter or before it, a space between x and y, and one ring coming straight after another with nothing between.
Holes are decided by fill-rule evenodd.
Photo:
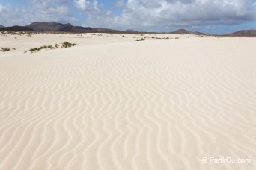
<instances>
[{"instance_id":1,"label":"dark brown mountain range along the horizon behind the sand","mask_svg":"<svg viewBox=\"0 0 256 170\"><path fill-rule=\"evenodd\" d=\"M33 22L26 26L12 26L4 27L0 25L0 31L49 31L49 32L73 32L73 33L148 33L139 32L133 30L119 31L107 28L91 28L91 27L81 27L73 26L70 23L61 24L58 22ZM188 31L185 29L180 29L177 31L169 32L171 34L195 34L195 35L207 35L198 31ZM237 31L231 34L223 34L226 37L256 37L256 30L243 30Z\"/></svg>"}]
</instances>

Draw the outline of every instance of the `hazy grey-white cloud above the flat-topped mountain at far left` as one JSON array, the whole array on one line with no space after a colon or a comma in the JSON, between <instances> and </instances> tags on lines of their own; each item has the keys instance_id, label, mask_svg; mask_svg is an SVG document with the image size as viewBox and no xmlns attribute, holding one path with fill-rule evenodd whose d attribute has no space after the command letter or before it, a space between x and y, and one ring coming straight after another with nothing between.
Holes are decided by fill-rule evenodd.
<instances>
[{"instance_id":1,"label":"hazy grey-white cloud above the flat-topped mountain at far left","mask_svg":"<svg viewBox=\"0 0 256 170\"><path fill-rule=\"evenodd\" d=\"M29 0L29 7L4 6L1 25L28 25L34 21L75 22L68 0Z\"/></svg>"}]
</instances>

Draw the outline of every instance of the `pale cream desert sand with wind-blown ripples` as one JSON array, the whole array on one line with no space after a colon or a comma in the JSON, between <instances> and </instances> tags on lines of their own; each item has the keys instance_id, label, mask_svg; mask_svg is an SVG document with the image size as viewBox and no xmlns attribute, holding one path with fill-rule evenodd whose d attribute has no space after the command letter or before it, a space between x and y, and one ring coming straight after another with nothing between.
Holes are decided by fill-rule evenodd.
<instances>
[{"instance_id":1,"label":"pale cream desert sand with wind-blown ripples","mask_svg":"<svg viewBox=\"0 0 256 170\"><path fill-rule=\"evenodd\" d=\"M79 45L24 53L64 41ZM16 48L0 51L1 170L256 169L255 38L7 34L0 47Z\"/></svg>"}]
</instances>

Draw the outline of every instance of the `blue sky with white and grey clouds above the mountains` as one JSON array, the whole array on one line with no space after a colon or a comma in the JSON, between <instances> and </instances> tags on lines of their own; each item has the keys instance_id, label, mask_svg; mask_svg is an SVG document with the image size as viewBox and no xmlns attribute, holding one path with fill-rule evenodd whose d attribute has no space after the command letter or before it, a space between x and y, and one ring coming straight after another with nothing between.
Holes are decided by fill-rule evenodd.
<instances>
[{"instance_id":1,"label":"blue sky with white and grey clouds above the mountains","mask_svg":"<svg viewBox=\"0 0 256 170\"><path fill-rule=\"evenodd\" d=\"M256 0L0 0L0 25L61 22L94 28L207 34L256 29Z\"/></svg>"}]
</instances>

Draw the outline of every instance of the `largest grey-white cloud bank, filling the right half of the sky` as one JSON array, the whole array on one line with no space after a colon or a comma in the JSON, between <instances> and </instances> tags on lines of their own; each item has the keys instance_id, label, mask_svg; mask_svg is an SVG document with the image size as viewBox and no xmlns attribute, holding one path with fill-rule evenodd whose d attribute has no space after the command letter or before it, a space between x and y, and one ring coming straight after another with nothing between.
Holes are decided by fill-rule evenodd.
<instances>
[{"instance_id":1,"label":"largest grey-white cloud bank, filling the right half of the sky","mask_svg":"<svg viewBox=\"0 0 256 170\"><path fill-rule=\"evenodd\" d=\"M117 23L130 27L237 24L254 20L251 0L128 0Z\"/></svg>"}]
</instances>

